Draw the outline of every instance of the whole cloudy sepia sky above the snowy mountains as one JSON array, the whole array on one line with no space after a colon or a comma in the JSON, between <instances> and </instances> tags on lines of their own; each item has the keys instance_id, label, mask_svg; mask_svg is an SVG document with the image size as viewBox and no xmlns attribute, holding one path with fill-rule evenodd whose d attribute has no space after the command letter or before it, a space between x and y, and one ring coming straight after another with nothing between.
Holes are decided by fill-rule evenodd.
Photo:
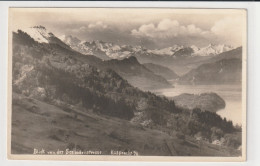
<instances>
[{"instance_id":1,"label":"whole cloudy sepia sky above the snowy mountains","mask_svg":"<svg viewBox=\"0 0 260 166\"><path fill-rule=\"evenodd\" d=\"M13 31L43 25L56 36L163 48L242 45L245 10L155 8L12 8Z\"/></svg>"}]
</instances>

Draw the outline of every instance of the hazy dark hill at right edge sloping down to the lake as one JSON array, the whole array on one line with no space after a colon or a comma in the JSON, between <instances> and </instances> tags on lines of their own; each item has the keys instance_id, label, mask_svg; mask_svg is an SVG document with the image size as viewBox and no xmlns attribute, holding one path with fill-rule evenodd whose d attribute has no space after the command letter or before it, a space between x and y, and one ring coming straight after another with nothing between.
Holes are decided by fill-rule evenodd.
<instances>
[{"instance_id":1,"label":"hazy dark hill at right edge sloping down to the lake","mask_svg":"<svg viewBox=\"0 0 260 166\"><path fill-rule=\"evenodd\" d=\"M202 63L202 62L200 62ZM223 52L203 61L197 68L181 76L181 84L241 84L242 47Z\"/></svg>"}]
</instances>

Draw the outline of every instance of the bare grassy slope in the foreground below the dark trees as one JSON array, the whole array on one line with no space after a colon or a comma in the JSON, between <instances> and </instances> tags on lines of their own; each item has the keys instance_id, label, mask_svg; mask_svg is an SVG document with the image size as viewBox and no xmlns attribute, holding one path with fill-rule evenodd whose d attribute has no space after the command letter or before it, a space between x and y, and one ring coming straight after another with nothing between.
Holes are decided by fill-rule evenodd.
<instances>
[{"instance_id":1,"label":"bare grassy slope in the foreground below the dark trees","mask_svg":"<svg viewBox=\"0 0 260 166\"><path fill-rule=\"evenodd\" d=\"M77 116L75 116L77 115ZM178 139L169 134L143 128L129 121L96 115L76 107L61 109L44 102L13 94L12 153L32 154L33 148L136 150L139 155L238 156L240 151L208 144L192 138ZM201 148L200 148L201 147Z\"/></svg>"}]
</instances>

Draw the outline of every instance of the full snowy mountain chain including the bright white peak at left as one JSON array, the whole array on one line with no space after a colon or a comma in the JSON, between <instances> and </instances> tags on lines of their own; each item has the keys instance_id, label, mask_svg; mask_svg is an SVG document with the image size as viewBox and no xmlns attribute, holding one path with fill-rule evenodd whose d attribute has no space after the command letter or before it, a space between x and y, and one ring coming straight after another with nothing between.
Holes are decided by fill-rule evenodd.
<instances>
[{"instance_id":1,"label":"full snowy mountain chain including the bright white peak at left","mask_svg":"<svg viewBox=\"0 0 260 166\"><path fill-rule=\"evenodd\" d=\"M117 45L115 43L104 42L100 40L88 42L81 41L77 37L71 35L62 35L57 38L51 32L49 32L43 26L34 26L26 29L22 29L30 35L35 41L39 43L58 43L64 47L67 45L82 53L87 55L95 55L101 59L123 59L130 56L172 56L172 57L182 57L182 56L214 56L225 51L234 49L232 46L225 44L214 45L209 44L206 47L199 48L195 45L184 47L180 45L173 45L171 47L166 47L162 49L146 49L141 46L131 46L131 45ZM64 45L64 43L66 45Z\"/></svg>"}]
</instances>

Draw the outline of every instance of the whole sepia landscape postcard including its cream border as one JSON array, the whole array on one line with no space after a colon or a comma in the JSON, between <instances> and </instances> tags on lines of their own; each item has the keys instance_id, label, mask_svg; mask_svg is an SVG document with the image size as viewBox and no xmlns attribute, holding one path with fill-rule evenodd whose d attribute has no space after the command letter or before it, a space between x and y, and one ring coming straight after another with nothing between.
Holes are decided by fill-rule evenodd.
<instances>
[{"instance_id":1,"label":"whole sepia landscape postcard including its cream border","mask_svg":"<svg viewBox=\"0 0 260 166\"><path fill-rule=\"evenodd\" d=\"M11 159L246 158L247 11L9 8Z\"/></svg>"}]
</instances>

